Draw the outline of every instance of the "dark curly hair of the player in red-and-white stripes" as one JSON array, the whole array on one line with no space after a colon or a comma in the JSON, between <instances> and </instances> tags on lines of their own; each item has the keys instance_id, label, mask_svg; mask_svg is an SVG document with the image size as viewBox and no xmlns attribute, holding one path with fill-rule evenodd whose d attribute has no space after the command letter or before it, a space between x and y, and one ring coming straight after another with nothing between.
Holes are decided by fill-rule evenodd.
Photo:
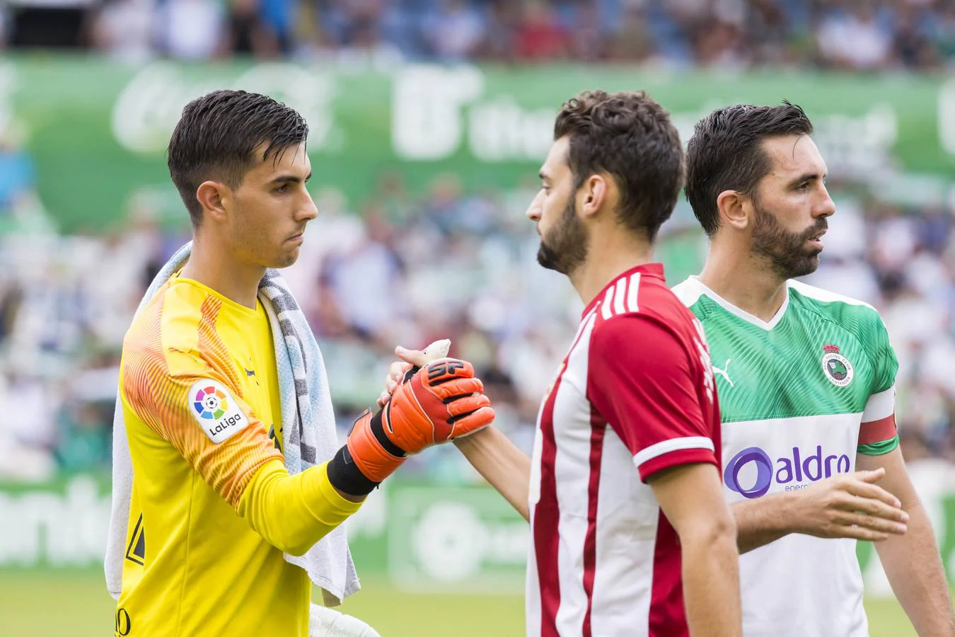
<instances>
[{"instance_id":1,"label":"dark curly hair of the player in red-and-white stripes","mask_svg":"<svg viewBox=\"0 0 955 637\"><path fill-rule=\"evenodd\" d=\"M683 146L668 112L643 91L587 91L563 104L554 139L563 137L575 190L594 173L613 176L618 218L653 241L683 184Z\"/></svg>"}]
</instances>

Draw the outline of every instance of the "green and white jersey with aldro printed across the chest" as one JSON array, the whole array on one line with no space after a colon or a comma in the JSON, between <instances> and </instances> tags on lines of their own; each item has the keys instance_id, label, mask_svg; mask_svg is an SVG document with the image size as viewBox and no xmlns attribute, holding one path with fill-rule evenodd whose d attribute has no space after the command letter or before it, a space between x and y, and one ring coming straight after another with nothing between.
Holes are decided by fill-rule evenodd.
<instances>
[{"instance_id":1,"label":"green and white jersey with aldro printed across the chest","mask_svg":"<svg viewBox=\"0 0 955 637\"><path fill-rule=\"evenodd\" d=\"M804 489L896 448L899 364L879 313L790 281L770 322L696 277L673 288L710 343L730 502ZM747 637L868 635L856 541L792 534L740 556Z\"/></svg>"}]
</instances>

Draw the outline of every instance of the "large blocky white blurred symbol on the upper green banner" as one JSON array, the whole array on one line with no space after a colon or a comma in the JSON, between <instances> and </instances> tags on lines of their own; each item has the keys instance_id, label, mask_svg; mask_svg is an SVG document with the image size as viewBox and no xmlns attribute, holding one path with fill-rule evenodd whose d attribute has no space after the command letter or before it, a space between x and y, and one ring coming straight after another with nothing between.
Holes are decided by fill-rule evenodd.
<instances>
[{"instance_id":1,"label":"large blocky white blurred symbol on the upper green banner","mask_svg":"<svg viewBox=\"0 0 955 637\"><path fill-rule=\"evenodd\" d=\"M484 89L473 67L403 67L394 74L392 144L399 159L444 159L460 146L461 109Z\"/></svg>"}]
</instances>

